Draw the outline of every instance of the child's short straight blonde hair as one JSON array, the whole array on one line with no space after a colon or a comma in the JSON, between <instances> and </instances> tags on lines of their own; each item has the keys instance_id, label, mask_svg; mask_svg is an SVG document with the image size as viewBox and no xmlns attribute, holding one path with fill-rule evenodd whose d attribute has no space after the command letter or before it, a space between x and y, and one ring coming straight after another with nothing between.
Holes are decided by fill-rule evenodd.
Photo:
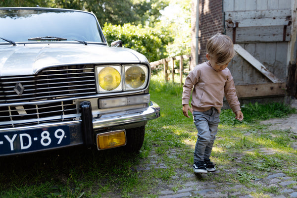
<instances>
[{"instance_id":1,"label":"child's short straight blonde hair","mask_svg":"<svg viewBox=\"0 0 297 198\"><path fill-rule=\"evenodd\" d=\"M207 41L206 52L218 65L229 63L235 55L232 40L221 33L217 33Z\"/></svg>"}]
</instances>

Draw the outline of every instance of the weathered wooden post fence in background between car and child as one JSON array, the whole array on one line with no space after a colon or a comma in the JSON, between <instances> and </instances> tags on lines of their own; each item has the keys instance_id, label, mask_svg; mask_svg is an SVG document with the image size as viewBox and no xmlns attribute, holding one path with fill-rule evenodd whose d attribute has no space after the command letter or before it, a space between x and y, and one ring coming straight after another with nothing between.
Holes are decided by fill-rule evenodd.
<instances>
[{"instance_id":1,"label":"weathered wooden post fence in background between car and child","mask_svg":"<svg viewBox=\"0 0 297 198\"><path fill-rule=\"evenodd\" d=\"M171 73L172 74L172 82L174 83L174 74L179 73L180 74L180 84L182 85L183 84L184 59L188 59L190 62L190 55L179 55L179 56L175 56L175 57L168 57L168 58L163 58L161 60L157 60L154 62L150 62L151 70L160 68L160 65L163 65L165 81L169 81L168 73ZM174 67L175 60L179 60L179 69L175 69L175 67Z\"/></svg>"}]
</instances>

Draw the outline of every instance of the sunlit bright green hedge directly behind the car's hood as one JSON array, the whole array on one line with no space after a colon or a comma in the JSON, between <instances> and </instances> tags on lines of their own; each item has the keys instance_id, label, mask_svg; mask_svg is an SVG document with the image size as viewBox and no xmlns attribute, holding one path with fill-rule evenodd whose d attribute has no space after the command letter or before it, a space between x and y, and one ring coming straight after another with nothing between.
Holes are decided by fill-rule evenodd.
<instances>
[{"instance_id":1,"label":"sunlit bright green hedge directly behind the car's hood","mask_svg":"<svg viewBox=\"0 0 297 198\"><path fill-rule=\"evenodd\" d=\"M122 40L123 47L134 49L147 56L149 61L163 58L164 40L162 35L154 32L152 28L135 26L130 23L124 25L104 24L103 33L108 43Z\"/></svg>"}]
</instances>

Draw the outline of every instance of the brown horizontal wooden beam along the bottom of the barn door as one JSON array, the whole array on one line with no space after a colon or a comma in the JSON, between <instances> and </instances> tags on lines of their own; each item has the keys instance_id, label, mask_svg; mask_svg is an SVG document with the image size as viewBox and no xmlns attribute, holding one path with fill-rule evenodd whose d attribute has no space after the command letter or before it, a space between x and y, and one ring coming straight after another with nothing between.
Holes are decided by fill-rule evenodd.
<instances>
[{"instance_id":1,"label":"brown horizontal wooden beam along the bottom of the barn door","mask_svg":"<svg viewBox=\"0 0 297 198\"><path fill-rule=\"evenodd\" d=\"M286 94L286 83L237 85L235 88L238 98L285 96Z\"/></svg>"}]
</instances>

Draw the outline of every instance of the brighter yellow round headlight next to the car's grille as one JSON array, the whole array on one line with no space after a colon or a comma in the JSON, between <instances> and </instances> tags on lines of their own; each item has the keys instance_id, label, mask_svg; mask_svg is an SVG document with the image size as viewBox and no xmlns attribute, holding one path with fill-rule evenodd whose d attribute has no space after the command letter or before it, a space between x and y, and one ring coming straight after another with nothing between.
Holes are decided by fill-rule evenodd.
<instances>
[{"instance_id":1,"label":"brighter yellow round headlight next to the car's grille","mask_svg":"<svg viewBox=\"0 0 297 198\"><path fill-rule=\"evenodd\" d=\"M98 74L99 85L106 91L116 89L121 83L121 75L113 67L105 67Z\"/></svg>"}]
</instances>

